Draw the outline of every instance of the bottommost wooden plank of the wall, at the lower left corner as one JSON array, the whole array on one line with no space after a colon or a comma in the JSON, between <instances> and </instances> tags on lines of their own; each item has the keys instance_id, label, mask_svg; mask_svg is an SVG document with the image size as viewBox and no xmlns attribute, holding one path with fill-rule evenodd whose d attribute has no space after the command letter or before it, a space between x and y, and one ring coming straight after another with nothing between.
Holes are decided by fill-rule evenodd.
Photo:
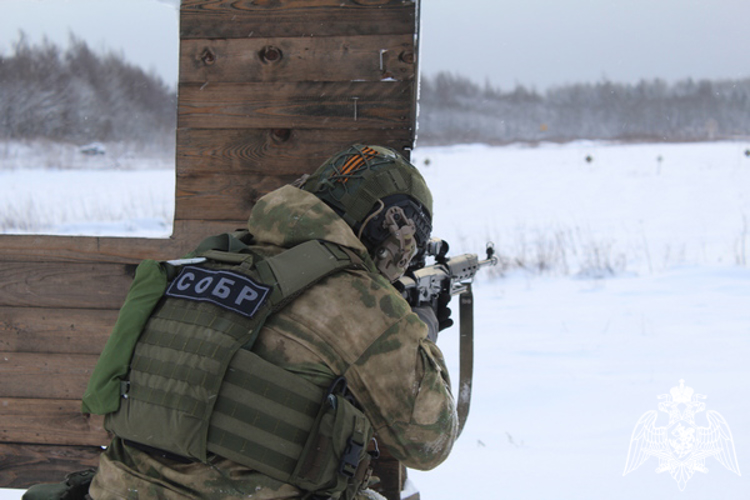
<instances>
[{"instance_id":1,"label":"bottommost wooden plank of the wall, at the lower left corner","mask_svg":"<svg viewBox=\"0 0 750 500\"><path fill-rule=\"evenodd\" d=\"M62 481L70 472L96 467L98 446L45 446L0 444L0 485L28 488L32 484Z\"/></svg>"}]
</instances>

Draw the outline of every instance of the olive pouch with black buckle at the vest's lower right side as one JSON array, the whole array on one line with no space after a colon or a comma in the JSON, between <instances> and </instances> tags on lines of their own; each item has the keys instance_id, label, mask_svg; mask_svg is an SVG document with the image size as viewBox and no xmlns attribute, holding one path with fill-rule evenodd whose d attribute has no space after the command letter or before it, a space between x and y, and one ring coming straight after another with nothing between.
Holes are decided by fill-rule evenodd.
<instances>
[{"instance_id":1,"label":"olive pouch with black buckle at the vest's lower right side","mask_svg":"<svg viewBox=\"0 0 750 500\"><path fill-rule=\"evenodd\" d=\"M363 460L369 463L367 445L372 436L364 413L345 397L330 394L321 405L289 482L333 498L339 498L344 490L358 491L359 484L353 483L362 481L358 468Z\"/></svg>"}]
</instances>

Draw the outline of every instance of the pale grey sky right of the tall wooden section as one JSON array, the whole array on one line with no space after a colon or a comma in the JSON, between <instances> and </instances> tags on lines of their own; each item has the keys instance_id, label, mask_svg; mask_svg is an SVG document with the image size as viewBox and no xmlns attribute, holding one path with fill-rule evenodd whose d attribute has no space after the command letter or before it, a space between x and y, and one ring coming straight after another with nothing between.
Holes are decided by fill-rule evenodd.
<instances>
[{"instance_id":1,"label":"pale grey sky right of the tall wooden section","mask_svg":"<svg viewBox=\"0 0 750 500\"><path fill-rule=\"evenodd\" d=\"M750 77L750 0L424 0L422 71L502 88Z\"/></svg>"}]
</instances>

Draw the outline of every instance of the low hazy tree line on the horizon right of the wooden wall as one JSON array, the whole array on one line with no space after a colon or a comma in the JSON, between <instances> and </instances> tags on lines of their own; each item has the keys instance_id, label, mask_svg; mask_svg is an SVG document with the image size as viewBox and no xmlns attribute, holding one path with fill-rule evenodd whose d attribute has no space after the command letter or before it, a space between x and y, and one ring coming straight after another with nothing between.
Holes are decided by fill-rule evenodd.
<instances>
[{"instance_id":1,"label":"low hazy tree line on the horizon right of the wooden wall","mask_svg":"<svg viewBox=\"0 0 750 500\"><path fill-rule=\"evenodd\" d=\"M578 83L544 93L502 91L451 73L424 77L420 144L633 140L697 141L750 135L750 78L673 84Z\"/></svg>"}]
</instances>

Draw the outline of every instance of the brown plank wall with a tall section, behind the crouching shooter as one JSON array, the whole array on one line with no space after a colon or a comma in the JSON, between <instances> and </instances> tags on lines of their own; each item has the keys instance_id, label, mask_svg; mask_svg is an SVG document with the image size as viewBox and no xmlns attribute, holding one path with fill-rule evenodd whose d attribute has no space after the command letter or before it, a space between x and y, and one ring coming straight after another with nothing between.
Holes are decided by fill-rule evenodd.
<instances>
[{"instance_id":1,"label":"brown plank wall with a tall section, behind the crouching shooter","mask_svg":"<svg viewBox=\"0 0 750 500\"><path fill-rule=\"evenodd\" d=\"M108 436L80 397L138 261L241 227L353 142L408 155L415 2L183 0L173 236L0 236L0 486L97 463Z\"/></svg>"}]
</instances>

